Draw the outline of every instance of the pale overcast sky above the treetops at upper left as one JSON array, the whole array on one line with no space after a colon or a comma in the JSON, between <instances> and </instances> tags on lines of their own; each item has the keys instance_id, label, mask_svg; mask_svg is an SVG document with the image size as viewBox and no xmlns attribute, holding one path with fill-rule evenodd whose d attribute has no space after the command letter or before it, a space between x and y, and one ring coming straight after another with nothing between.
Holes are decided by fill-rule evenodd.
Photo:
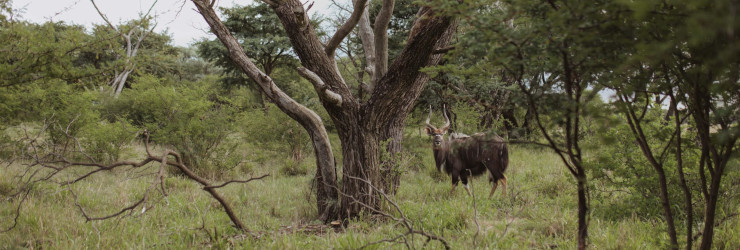
<instances>
[{"instance_id":1,"label":"pale overcast sky above the treetops at upper left","mask_svg":"<svg viewBox=\"0 0 740 250\"><path fill-rule=\"evenodd\" d=\"M313 1L315 1L315 4L309 10L309 15L313 15L315 12L327 17L332 15L331 0ZM13 9L20 16L19 19L35 23L64 21L71 24L85 25L88 28L92 24L104 23L89 0L12 0L12 2ZM146 12L153 2L154 0L95 1L114 25L138 18L139 14ZM337 2L349 1L338 0ZM251 0L219 0L217 6L231 7L250 3L252 3ZM158 22L156 31L167 30L177 46L188 46L201 37L211 37L208 34L208 24L194 8L193 3L186 0L157 1L153 9Z\"/></svg>"}]
</instances>

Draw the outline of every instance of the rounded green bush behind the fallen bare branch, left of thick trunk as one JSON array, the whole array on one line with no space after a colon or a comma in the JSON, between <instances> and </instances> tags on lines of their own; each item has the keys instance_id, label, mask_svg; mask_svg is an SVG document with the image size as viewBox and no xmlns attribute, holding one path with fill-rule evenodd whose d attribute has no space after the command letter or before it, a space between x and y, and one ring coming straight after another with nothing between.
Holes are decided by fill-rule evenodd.
<instances>
[{"instance_id":1,"label":"rounded green bush behind the fallen bare branch, left of thick trunk","mask_svg":"<svg viewBox=\"0 0 740 250\"><path fill-rule=\"evenodd\" d=\"M218 178L242 166L236 128L244 119L240 100L219 87L215 77L176 84L142 76L102 109L109 120L126 119L148 130L152 142L179 152L194 171Z\"/></svg>"}]
</instances>

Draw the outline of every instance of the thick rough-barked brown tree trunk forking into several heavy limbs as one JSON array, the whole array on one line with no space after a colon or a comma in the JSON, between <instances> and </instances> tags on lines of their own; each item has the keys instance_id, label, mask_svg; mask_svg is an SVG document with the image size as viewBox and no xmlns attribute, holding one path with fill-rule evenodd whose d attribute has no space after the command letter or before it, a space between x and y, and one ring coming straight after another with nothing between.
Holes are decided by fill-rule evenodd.
<instances>
[{"instance_id":1,"label":"thick rough-barked brown tree trunk forking into several heavy limbs","mask_svg":"<svg viewBox=\"0 0 740 250\"><path fill-rule=\"evenodd\" d=\"M192 0L219 40L229 50L231 59L254 80L278 108L300 123L311 137L321 173L317 189L318 209L324 220L359 215L365 208L380 208L381 198L372 187L388 192L398 185L399 172L395 164L381 164L381 150L391 153L401 150L403 125L429 76L420 72L441 59L437 53L449 43L456 22L437 15L438 11L422 6L412 26L406 46L389 64L388 22L394 1L384 0L374 24L369 22L366 0L353 3L352 15L337 32L322 43L311 24L306 9L298 0L265 0L280 19L293 51L300 59L299 73L307 78L319 95L322 105L337 128L342 148L343 180L336 181L334 156L326 128L316 113L286 95L275 82L261 71L245 53L213 9L215 1ZM362 20L362 21L361 21ZM361 100L353 96L336 64L335 51L346 36L359 24L365 33L365 54L374 56L368 62L373 72L370 97ZM372 38L372 39L370 39ZM389 141L387 148L381 142ZM346 194L339 197L337 194ZM338 205L338 206L337 206Z\"/></svg>"}]
</instances>

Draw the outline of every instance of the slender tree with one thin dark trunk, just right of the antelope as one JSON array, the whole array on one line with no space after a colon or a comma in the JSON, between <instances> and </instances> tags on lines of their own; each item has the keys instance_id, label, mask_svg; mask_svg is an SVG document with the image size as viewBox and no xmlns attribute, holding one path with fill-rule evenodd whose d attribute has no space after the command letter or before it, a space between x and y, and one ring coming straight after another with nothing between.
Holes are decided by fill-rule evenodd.
<instances>
[{"instance_id":1,"label":"slender tree with one thin dark trunk, just right of the antelope","mask_svg":"<svg viewBox=\"0 0 740 250\"><path fill-rule=\"evenodd\" d=\"M542 135L530 143L553 149L575 181L579 249L588 245L591 209L584 121L598 116L591 103L602 88L600 77L618 65L618 33L605 32L618 10L609 0L481 1L476 15L461 18L485 30L461 36L470 46L455 48L477 62L440 68L476 78L505 76L524 96Z\"/></svg>"}]
</instances>

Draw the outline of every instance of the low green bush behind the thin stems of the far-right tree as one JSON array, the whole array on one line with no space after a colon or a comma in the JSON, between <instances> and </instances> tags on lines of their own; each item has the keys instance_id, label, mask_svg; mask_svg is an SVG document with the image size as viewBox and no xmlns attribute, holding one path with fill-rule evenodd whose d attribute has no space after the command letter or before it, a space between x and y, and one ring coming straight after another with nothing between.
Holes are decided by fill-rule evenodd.
<instances>
[{"instance_id":1,"label":"low green bush behind the thin stems of the far-right tree","mask_svg":"<svg viewBox=\"0 0 740 250\"><path fill-rule=\"evenodd\" d=\"M643 119L642 128L648 143L654 154L660 154L665 144L672 140L674 127L666 124L663 119L664 111L660 108L651 108ZM593 137L586 142L584 148L588 148L589 155L585 164L592 169L591 175L593 200L596 215L608 219L622 219L639 214L645 219L663 217L660 206L660 188L658 175L653 166L648 162L640 147L637 145L634 135L626 123L617 123L612 126L604 126L598 131L600 137ZM692 135L686 131L683 133L685 139ZM684 141L684 143L689 140ZM672 143L672 142L671 142ZM701 193L698 185L698 172L693 163L698 162L699 153L691 145L683 146L684 171L689 182L689 188L694 194ZM685 219L683 208L685 207L683 193L680 191L675 152L665 151L663 169L667 178L669 200L671 201L674 216L677 219ZM695 184L691 184L695 183ZM695 196L694 199L701 199ZM695 214L701 214L697 211ZM698 217L698 216L697 216ZM695 219L697 218L695 217Z\"/></svg>"}]
</instances>

